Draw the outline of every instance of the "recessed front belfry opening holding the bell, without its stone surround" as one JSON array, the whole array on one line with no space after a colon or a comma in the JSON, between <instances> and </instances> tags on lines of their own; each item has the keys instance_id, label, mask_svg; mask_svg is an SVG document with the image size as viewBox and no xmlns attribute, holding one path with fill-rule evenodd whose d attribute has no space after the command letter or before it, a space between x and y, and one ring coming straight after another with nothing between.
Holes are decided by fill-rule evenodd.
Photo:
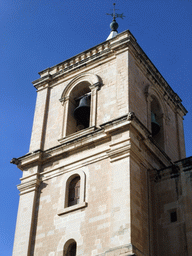
<instances>
[{"instance_id":1,"label":"recessed front belfry opening holding the bell, without its stone surround","mask_svg":"<svg viewBox=\"0 0 192 256\"><path fill-rule=\"evenodd\" d=\"M90 125L90 84L83 81L69 95L66 135L88 128Z\"/></svg>"}]
</instances>

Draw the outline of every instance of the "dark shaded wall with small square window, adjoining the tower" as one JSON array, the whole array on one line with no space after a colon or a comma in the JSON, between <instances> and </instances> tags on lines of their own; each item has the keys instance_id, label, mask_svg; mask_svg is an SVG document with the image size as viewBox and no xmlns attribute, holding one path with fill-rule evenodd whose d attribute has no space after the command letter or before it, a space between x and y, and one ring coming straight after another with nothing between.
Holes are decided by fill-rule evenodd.
<instances>
[{"instance_id":1,"label":"dark shaded wall with small square window, adjoining the tower","mask_svg":"<svg viewBox=\"0 0 192 256\"><path fill-rule=\"evenodd\" d=\"M153 183L153 239L159 256L192 253L192 165L189 158L181 162L161 170Z\"/></svg>"}]
</instances>

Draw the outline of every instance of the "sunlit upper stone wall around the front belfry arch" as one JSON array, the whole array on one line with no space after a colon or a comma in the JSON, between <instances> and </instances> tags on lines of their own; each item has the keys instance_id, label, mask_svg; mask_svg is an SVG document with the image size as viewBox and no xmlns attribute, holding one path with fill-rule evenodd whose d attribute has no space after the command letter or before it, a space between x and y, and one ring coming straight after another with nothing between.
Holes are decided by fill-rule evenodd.
<instances>
[{"instance_id":1,"label":"sunlit upper stone wall around the front belfry arch","mask_svg":"<svg viewBox=\"0 0 192 256\"><path fill-rule=\"evenodd\" d=\"M127 52L123 52L117 56L113 56L108 61L104 61L102 65L83 68L74 75L64 77L55 83L54 87L50 89L48 98L48 112L43 130L45 138L44 150L59 144L58 139L60 138L63 118L63 106L59 99L67 84L78 74L91 72L102 79L102 86L98 91L96 126L128 113L127 63ZM40 133L39 128L43 127L42 114L45 108L45 97L40 96L45 94L45 90L38 92L30 147L31 151L39 147L40 135L38 134Z\"/></svg>"}]
</instances>

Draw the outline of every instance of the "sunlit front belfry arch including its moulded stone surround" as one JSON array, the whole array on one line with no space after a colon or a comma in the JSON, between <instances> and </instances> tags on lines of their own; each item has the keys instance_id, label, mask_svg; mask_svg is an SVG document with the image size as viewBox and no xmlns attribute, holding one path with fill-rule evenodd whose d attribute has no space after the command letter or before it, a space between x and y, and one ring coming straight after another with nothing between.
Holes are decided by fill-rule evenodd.
<instances>
[{"instance_id":1,"label":"sunlit front belfry arch including its moulded stone surround","mask_svg":"<svg viewBox=\"0 0 192 256\"><path fill-rule=\"evenodd\" d=\"M60 99L64 110L60 142L75 132L96 127L97 91L100 86L97 75L82 73L65 87Z\"/></svg>"}]
</instances>

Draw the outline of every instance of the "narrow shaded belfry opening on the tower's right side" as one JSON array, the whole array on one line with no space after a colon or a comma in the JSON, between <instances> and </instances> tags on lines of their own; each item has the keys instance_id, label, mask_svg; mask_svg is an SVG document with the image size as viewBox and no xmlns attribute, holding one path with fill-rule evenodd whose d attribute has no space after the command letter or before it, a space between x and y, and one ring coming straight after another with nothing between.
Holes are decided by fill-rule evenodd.
<instances>
[{"instance_id":1,"label":"narrow shaded belfry opening on the tower's right side","mask_svg":"<svg viewBox=\"0 0 192 256\"><path fill-rule=\"evenodd\" d=\"M159 101L152 96L151 101L151 133L157 144L164 149L163 112Z\"/></svg>"}]
</instances>

